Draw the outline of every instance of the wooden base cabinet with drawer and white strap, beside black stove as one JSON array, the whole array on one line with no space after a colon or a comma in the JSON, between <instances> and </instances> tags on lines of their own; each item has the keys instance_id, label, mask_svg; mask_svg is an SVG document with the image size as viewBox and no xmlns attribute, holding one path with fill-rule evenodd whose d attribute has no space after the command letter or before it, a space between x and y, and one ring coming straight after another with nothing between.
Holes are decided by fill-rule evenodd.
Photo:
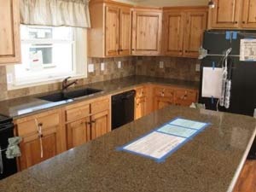
<instances>
[{"instance_id":1,"label":"wooden base cabinet with drawer and white strap, beside black stove","mask_svg":"<svg viewBox=\"0 0 256 192\"><path fill-rule=\"evenodd\" d=\"M20 170L48 160L66 150L61 113L52 110L15 121L20 143Z\"/></svg>"}]
</instances>

